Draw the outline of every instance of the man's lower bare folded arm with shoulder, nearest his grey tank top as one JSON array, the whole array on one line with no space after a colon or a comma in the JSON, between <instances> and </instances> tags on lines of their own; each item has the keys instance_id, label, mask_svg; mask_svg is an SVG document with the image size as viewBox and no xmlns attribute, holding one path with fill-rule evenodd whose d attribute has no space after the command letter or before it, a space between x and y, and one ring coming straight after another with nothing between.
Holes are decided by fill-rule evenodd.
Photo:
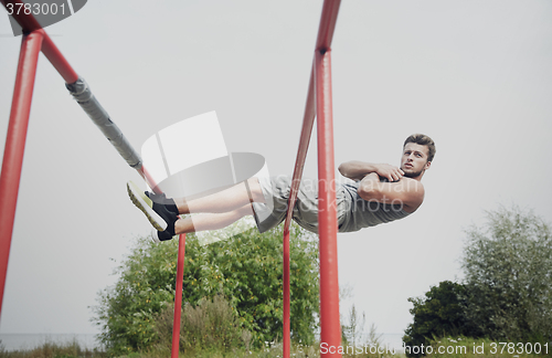
<instances>
[{"instance_id":1,"label":"man's lower bare folded arm with shoulder, nearest his grey tank top","mask_svg":"<svg viewBox=\"0 0 552 358\"><path fill-rule=\"evenodd\" d=\"M364 200L402 204L407 212L415 211L424 201L424 186L418 180L403 178L397 182L381 182L375 172L362 179L358 193Z\"/></svg>"}]
</instances>

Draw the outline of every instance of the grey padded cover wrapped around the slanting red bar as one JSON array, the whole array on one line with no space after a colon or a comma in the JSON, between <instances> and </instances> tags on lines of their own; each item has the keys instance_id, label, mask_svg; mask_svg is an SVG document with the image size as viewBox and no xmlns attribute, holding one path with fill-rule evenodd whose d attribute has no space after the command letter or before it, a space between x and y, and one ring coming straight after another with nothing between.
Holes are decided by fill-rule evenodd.
<instances>
[{"instance_id":1,"label":"grey padded cover wrapped around the slanting red bar","mask_svg":"<svg viewBox=\"0 0 552 358\"><path fill-rule=\"evenodd\" d=\"M130 146L117 125L109 119L109 115L92 94L88 84L83 78L78 78L75 83L66 83L65 87L128 165L135 169L140 169L140 155Z\"/></svg>"}]
</instances>

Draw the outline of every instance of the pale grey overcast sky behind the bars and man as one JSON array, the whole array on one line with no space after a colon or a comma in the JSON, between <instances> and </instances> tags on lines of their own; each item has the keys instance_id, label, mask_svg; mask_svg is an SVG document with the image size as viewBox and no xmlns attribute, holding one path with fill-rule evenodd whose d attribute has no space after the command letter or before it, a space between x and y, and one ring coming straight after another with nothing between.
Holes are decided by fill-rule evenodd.
<instances>
[{"instance_id":1,"label":"pale grey overcast sky behind the bars and man","mask_svg":"<svg viewBox=\"0 0 552 358\"><path fill-rule=\"evenodd\" d=\"M95 0L46 31L136 148L216 110L229 151L291 173L321 6ZM408 297L461 280L463 229L485 210L517 203L552 219L551 19L545 0L342 2L336 165L399 165L412 133L437 145L415 214L338 235L340 283L353 287L346 308L354 303L379 333L406 328ZM20 43L1 10L2 152ZM316 135L307 160L316 178ZM128 179L140 180L41 55L0 333L97 331L88 306L150 231Z\"/></svg>"}]
</instances>

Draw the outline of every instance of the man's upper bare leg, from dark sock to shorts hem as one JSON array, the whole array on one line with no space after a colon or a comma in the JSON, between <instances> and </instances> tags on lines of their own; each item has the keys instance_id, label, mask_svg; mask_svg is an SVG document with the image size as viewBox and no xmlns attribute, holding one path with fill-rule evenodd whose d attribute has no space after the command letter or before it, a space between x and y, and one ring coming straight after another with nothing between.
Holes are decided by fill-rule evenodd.
<instances>
[{"instance_id":1,"label":"man's upper bare leg, from dark sock to shorts hem","mask_svg":"<svg viewBox=\"0 0 552 358\"><path fill-rule=\"evenodd\" d=\"M173 200L180 214L234 212L240 211L244 206L248 206L251 201L265 202L257 178L251 178L245 182L203 198L190 201L185 201L183 198Z\"/></svg>"}]
</instances>

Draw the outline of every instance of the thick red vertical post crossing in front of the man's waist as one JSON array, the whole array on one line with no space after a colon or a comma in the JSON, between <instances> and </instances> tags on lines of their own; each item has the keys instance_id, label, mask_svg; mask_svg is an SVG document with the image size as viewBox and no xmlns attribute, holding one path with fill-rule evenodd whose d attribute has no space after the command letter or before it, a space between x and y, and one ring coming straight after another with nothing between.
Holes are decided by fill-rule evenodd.
<instances>
[{"instance_id":1,"label":"thick red vertical post crossing in front of the man's waist","mask_svg":"<svg viewBox=\"0 0 552 358\"><path fill-rule=\"evenodd\" d=\"M321 356L341 357L339 320L338 240L336 177L333 162L333 118L331 106L331 51L315 55L318 128L318 234L320 253L320 344Z\"/></svg>"}]
</instances>

